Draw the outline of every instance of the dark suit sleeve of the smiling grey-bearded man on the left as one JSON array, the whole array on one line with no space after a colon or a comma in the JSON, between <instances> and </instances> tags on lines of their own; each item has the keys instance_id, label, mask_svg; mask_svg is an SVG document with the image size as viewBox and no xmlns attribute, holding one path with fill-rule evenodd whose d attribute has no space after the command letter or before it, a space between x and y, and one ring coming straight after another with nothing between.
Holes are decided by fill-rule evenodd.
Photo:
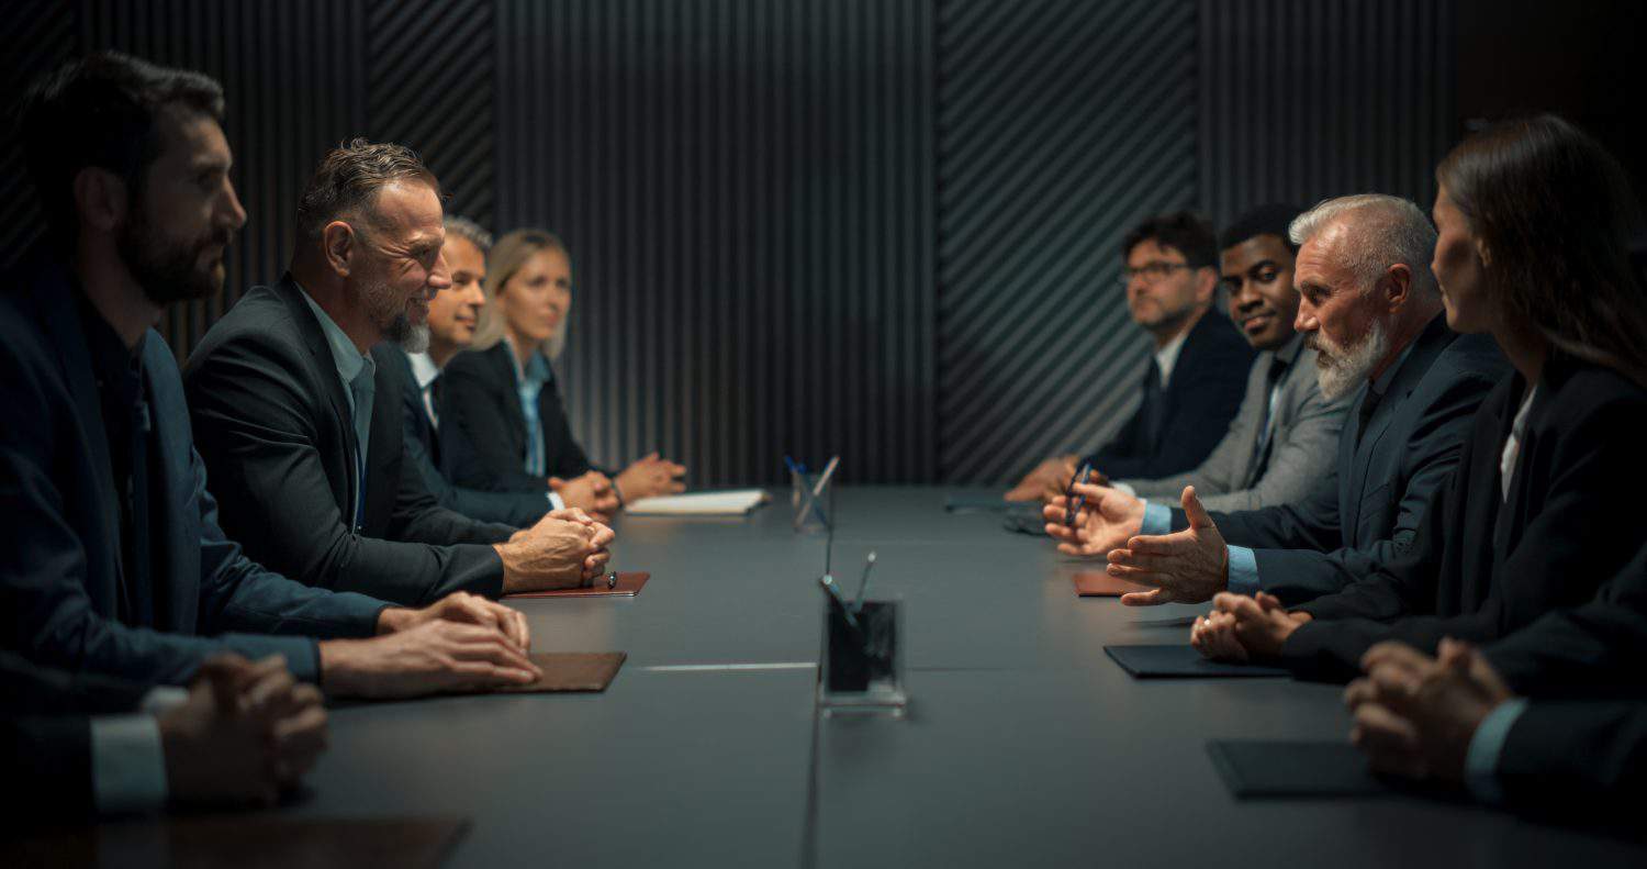
<instances>
[{"instance_id":1,"label":"dark suit sleeve of the smiling grey-bearded man on the left","mask_svg":"<svg viewBox=\"0 0 1647 869\"><path fill-rule=\"evenodd\" d=\"M191 361L196 442L232 505L226 528L260 561L311 585L405 605L460 590L497 597L502 562L489 546L374 539L344 523L315 445L324 414L295 371L275 341L254 335Z\"/></svg>"}]
</instances>

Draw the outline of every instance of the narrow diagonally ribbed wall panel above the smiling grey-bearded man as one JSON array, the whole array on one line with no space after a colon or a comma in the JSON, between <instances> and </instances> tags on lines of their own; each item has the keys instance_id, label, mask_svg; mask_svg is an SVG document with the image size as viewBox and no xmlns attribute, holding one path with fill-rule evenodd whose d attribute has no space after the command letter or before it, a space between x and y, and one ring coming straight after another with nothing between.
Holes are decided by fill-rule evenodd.
<instances>
[{"instance_id":1,"label":"narrow diagonally ribbed wall panel above the smiling grey-bearded man","mask_svg":"<svg viewBox=\"0 0 1647 869\"><path fill-rule=\"evenodd\" d=\"M492 219L492 0L369 0L367 129L418 152L446 211Z\"/></svg>"}]
</instances>

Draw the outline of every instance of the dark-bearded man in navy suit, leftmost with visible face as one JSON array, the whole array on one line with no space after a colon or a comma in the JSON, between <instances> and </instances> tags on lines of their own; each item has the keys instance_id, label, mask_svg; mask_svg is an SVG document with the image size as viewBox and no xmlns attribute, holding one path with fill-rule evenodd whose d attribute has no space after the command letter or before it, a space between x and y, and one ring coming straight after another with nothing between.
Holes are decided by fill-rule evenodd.
<instances>
[{"instance_id":1,"label":"dark-bearded man in navy suit, leftmost with visible face","mask_svg":"<svg viewBox=\"0 0 1647 869\"><path fill-rule=\"evenodd\" d=\"M512 610L310 589L217 526L176 359L152 326L166 303L221 289L245 221L221 117L217 82L114 53L25 101L51 236L0 282L0 645L140 684L188 684L214 653L280 655L336 696L532 681Z\"/></svg>"}]
</instances>

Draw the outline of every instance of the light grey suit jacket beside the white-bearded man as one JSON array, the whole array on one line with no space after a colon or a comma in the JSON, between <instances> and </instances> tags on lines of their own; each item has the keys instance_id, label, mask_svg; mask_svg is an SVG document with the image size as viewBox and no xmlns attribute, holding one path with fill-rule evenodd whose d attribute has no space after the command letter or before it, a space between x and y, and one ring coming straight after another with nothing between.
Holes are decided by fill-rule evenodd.
<instances>
[{"instance_id":1,"label":"light grey suit jacket beside the white-bearded man","mask_svg":"<svg viewBox=\"0 0 1647 869\"><path fill-rule=\"evenodd\" d=\"M1276 359L1286 369L1276 384L1280 394L1270 442L1260 453L1258 440L1270 412L1270 368ZM1257 510L1299 501L1316 485L1334 478L1334 455L1347 407L1347 397L1321 397L1316 351L1304 346L1303 335L1295 335L1280 350L1267 350L1252 363L1240 412L1201 467L1176 477L1127 483L1140 498L1163 498L1173 505L1184 486L1196 486L1207 510Z\"/></svg>"}]
</instances>

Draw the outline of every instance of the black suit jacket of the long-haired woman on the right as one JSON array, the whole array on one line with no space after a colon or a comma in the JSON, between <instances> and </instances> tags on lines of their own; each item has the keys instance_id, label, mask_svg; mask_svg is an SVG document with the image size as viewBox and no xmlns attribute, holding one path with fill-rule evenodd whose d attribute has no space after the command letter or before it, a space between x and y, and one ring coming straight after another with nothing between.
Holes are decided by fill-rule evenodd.
<instances>
[{"instance_id":1,"label":"black suit jacket of the long-haired woman on the right","mask_svg":"<svg viewBox=\"0 0 1647 869\"><path fill-rule=\"evenodd\" d=\"M1476 412L1459 465L1425 510L1413 546L1342 592L1283 656L1304 674L1346 678L1380 640L1435 653L1444 636L1489 643L1551 610L1583 607L1642 547L1626 498L1647 491L1647 391L1553 355L1527 416L1505 501L1499 462L1525 383L1505 378Z\"/></svg>"}]
</instances>

